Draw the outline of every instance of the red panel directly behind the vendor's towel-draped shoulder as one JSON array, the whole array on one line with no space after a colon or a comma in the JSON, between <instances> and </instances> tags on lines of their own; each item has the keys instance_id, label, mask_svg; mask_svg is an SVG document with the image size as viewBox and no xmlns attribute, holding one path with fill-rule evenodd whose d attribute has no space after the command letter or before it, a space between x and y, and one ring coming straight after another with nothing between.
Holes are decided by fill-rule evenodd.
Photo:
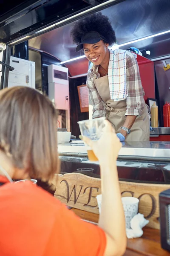
<instances>
[{"instance_id":1,"label":"red panel directly behind the vendor's towel-draped shoulder","mask_svg":"<svg viewBox=\"0 0 170 256\"><path fill-rule=\"evenodd\" d=\"M137 54L137 61L139 65L139 72L141 76L142 86L144 88L144 99L155 99L155 76L154 76L154 62L141 55Z\"/></svg>"}]
</instances>

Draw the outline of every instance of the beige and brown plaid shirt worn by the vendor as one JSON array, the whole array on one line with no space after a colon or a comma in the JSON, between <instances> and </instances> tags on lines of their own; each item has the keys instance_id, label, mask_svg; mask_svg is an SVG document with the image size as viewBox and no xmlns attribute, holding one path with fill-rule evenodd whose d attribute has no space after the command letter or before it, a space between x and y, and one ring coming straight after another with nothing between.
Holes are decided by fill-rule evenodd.
<instances>
[{"instance_id":1,"label":"beige and brown plaid shirt worn by the vendor","mask_svg":"<svg viewBox=\"0 0 170 256\"><path fill-rule=\"evenodd\" d=\"M93 80L94 74L99 78L98 66L93 66L88 70L87 87L89 96L93 106L93 118L102 117L106 115L105 102L100 97ZM128 96L126 98L127 110L125 116L140 116L144 108L144 89L142 87L141 78L139 74L139 66L133 53L126 54L126 76L127 76L127 90ZM109 84L108 84L109 86Z\"/></svg>"}]
</instances>

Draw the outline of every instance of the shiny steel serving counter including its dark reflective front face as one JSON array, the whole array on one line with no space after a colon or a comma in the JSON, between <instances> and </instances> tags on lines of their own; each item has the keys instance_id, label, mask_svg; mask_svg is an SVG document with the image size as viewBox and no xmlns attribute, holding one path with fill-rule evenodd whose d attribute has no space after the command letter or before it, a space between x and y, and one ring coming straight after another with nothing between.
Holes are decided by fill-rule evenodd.
<instances>
[{"instance_id":1,"label":"shiny steel serving counter including its dark reflective front face","mask_svg":"<svg viewBox=\"0 0 170 256\"><path fill-rule=\"evenodd\" d=\"M59 144L58 150L62 174L83 172L100 178L99 162L88 160L83 144ZM85 168L93 171L85 172ZM119 180L170 184L170 142L125 143L119 152L117 169Z\"/></svg>"}]
</instances>

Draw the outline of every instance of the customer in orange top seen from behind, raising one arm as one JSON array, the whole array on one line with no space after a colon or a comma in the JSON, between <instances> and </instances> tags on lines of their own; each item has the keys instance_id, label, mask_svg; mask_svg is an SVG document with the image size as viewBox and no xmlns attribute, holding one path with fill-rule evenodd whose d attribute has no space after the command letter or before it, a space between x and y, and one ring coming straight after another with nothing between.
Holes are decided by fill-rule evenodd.
<instances>
[{"instance_id":1,"label":"customer in orange top seen from behind, raising one arm","mask_svg":"<svg viewBox=\"0 0 170 256\"><path fill-rule=\"evenodd\" d=\"M12 182L48 181L59 172L56 123L53 104L38 91L0 91L0 256L121 256L126 247L116 169L121 143L108 121L99 141L83 138L101 168L98 226L82 221L31 181Z\"/></svg>"}]
</instances>

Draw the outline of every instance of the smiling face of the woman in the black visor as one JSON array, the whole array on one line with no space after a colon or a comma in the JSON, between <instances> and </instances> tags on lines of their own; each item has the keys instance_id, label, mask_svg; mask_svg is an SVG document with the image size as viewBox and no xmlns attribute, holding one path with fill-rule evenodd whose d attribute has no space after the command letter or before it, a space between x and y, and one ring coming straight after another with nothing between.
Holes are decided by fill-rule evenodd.
<instances>
[{"instance_id":1,"label":"smiling face of the woman in the black visor","mask_svg":"<svg viewBox=\"0 0 170 256\"><path fill-rule=\"evenodd\" d=\"M105 65L109 62L109 44L102 40L96 44L83 44L86 58L95 65Z\"/></svg>"}]
</instances>

